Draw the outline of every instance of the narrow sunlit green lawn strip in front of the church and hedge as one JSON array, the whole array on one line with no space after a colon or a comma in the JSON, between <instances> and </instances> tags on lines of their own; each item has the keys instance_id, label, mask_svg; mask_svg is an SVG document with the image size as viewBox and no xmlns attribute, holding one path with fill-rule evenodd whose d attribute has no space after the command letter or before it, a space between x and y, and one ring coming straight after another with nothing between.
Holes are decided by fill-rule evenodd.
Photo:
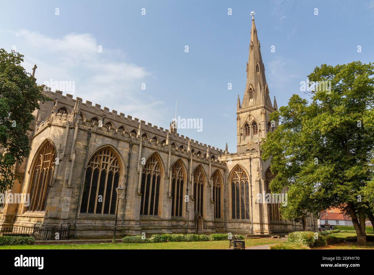
<instances>
[{"instance_id":1,"label":"narrow sunlit green lawn strip in front of the church and hedge","mask_svg":"<svg viewBox=\"0 0 374 275\"><path fill-rule=\"evenodd\" d=\"M245 246L276 244L284 239L246 239ZM3 245L0 249L227 249L229 241L162 242L157 244L60 244L60 245Z\"/></svg>"}]
</instances>

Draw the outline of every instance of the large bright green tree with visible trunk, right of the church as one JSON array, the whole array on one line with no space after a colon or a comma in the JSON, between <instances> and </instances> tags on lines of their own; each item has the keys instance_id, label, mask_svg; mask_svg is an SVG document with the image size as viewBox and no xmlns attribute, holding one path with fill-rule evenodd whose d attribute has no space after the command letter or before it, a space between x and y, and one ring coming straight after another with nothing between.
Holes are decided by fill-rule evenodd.
<instances>
[{"instance_id":1,"label":"large bright green tree with visible trunk, right of the church","mask_svg":"<svg viewBox=\"0 0 374 275\"><path fill-rule=\"evenodd\" d=\"M365 219L373 219L374 65L323 64L309 80L331 81L309 91L310 104L292 95L288 105L270 115L281 124L262 146L275 174L270 187L288 186L286 219L337 207L352 217L358 243L366 243Z\"/></svg>"}]
</instances>

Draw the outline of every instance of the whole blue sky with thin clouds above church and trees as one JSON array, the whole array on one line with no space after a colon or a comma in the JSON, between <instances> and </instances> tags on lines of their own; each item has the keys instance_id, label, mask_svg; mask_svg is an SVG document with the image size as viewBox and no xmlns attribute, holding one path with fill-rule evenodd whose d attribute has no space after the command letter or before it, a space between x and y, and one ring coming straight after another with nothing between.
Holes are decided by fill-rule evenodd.
<instances>
[{"instance_id":1,"label":"whole blue sky with thin clouds above church and trees","mask_svg":"<svg viewBox=\"0 0 374 275\"><path fill-rule=\"evenodd\" d=\"M374 1L2 1L0 48L15 46L28 71L37 64L39 84L74 81L74 98L157 126L168 128L178 100L177 116L203 120L180 134L236 152L252 10L278 106L304 97L318 65L374 61Z\"/></svg>"}]
</instances>

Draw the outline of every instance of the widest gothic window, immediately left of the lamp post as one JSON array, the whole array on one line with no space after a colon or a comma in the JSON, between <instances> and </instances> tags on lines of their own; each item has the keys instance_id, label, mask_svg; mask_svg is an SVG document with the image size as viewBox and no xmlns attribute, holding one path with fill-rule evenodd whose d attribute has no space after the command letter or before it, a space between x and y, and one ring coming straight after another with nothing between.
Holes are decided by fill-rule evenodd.
<instances>
[{"instance_id":1,"label":"widest gothic window, immediately left of the lamp post","mask_svg":"<svg viewBox=\"0 0 374 275\"><path fill-rule=\"evenodd\" d=\"M116 214L120 173L120 162L109 147L96 152L87 164L80 213Z\"/></svg>"}]
</instances>

